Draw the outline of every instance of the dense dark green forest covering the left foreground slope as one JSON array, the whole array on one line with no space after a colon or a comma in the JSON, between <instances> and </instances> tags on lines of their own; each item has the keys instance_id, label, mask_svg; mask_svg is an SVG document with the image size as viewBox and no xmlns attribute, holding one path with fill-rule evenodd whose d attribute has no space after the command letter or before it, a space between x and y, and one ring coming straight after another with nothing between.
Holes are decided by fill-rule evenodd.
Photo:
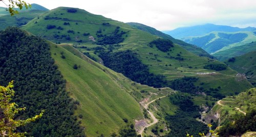
<instances>
[{"instance_id":1,"label":"dense dark green forest covering the left foreground slope","mask_svg":"<svg viewBox=\"0 0 256 137\"><path fill-rule=\"evenodd\" d=\"M16 117L27 119L45 110L38 121L18 130L28 132L28 136L85 136L74 116L79 102L68 96L66 81L49 49L45 40L28 36L18 28L0 32L0 85L14 80L13 101L27 107Z\"/></svg>"}]
</instances>

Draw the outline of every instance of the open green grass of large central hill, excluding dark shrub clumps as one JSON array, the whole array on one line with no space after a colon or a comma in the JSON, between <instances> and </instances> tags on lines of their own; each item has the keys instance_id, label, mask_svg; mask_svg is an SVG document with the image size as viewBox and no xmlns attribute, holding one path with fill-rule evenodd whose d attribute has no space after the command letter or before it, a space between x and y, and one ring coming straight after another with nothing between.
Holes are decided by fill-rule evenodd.
<instances>
[{"instance_id":1,"label":"open green grass of large central hill, excluding dark shrub clumps","mask_svg":"<svg viewBox=\"0 0 256 137\"><path fill-rule=\"evenodd\" d=\"M226 79L221 80L223 82L218 82L218 84L220 84L218 86L220 87L224 87L226 83L229 83L229 86L231 87L238 87L237 85L241 85L235 80L234 75L236 72L231 69L225 71L203 69L204 65L209 63L220 63L219 61L206 57L199 57L177 44L172 48L172 51L162 52L156 47L151 48L147 45L151 41L159 38L158 36L132 28L129 24L105 18L100 15L94 15L84 10L76 9L76 13L69 13L67 12L67 9L68 8L60 7L41 14L39 17L34 18L27 25L23 26L23 29L53 42L75 45L79 51L89 52L92 57L102 63L102 60L97 57L98 53L94 52L94 47L99 45L96 45L93 41L89 40L88 37L93 36L97 39L96 33L98 30L101 30L102 35L105 35L112 33L116 27L119 26L120 31L127 33L123 36L124 41L119 43L119 47L114 47L113 51L132 50L133 52L136 52L137 57L143 64L148 65L150 72L154 74L165 75L167 80L173 80L184 76L196 76L200 77L199 83L207 80L209 87L215 87L215 82L216 80L219 80L218 78ZM70 25L63 25L64 22L69 22ZM109 23L109 25L103 25L103 23L106 22ZM63 30L57 30L56 28L48 30L46 29L47 24L55 25L56 28L61 26ZM72 30L74 33L68 33L68 30ZM90 33L90 35L83 36L83 33ZM54 38L56 35L59 37L66 35L71 39L66 40L66 37ZM78 40L82 40L82 42L79 43L77 42ZM105 48L105 51L108 51L107 48L109 45L103 45L102 47ZM180 55L180 58L184 59L183 61L173 59L177 58L178 54ZM201 76L200 74L197 74L201 72L216 72L218 73L218 76ZM243 84L246 84L246 86L238 88L240 91L248 88L246 82ZM229 95L229 92L232 91L225 88L223 90L221 89L221 92L225 95ZM227 92L227 94L225 92Z\"/></svg>"}]
</instances>

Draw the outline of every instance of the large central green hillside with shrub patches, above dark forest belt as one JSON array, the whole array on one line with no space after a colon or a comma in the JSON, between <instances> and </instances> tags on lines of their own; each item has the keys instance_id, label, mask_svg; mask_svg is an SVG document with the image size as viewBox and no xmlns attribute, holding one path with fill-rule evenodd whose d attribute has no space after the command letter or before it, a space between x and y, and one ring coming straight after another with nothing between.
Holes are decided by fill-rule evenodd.
<instances>
[{"instance_id":1,"label":"large central green hillside with shrub patches, above dark forest belt","mask_svg":"<svg viewBox=\"0 0 256 137\"><path fill-rule=\"evenodd\" d=\"M23 29L55 43L73 44L79 51L102 64L104 62L98 56L103 52L131 50L150 73L164 75L167 81L196 76L199 77L197 86L208 91L220 86L219 92L224 95L251 87L246 79L237 81L237 72L229 68L223 71L204 69L207 64L221 64L219 61L199 57L178 44L168 51L161 51L160 46L149 45L158 36L84 10L56 8L34 18Z\"/></svg>"}]
</instances>

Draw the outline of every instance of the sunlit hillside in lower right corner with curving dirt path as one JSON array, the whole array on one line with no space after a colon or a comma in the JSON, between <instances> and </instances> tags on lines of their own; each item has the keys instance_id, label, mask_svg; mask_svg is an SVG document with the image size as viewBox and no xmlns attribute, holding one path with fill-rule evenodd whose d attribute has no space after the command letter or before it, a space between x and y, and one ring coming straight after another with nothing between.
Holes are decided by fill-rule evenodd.
<instances>
[{"instance_id":1,"label":"sunlit hillside in lower right corner with curving dirt path","mask_svg":"<svg viewBox=\"0 0 256 137\"><path fill-rule=\"evenodd\" d=\"M220 136L241 136L256 130L256 88L246 90L236 96L219 100L205 117L206 122L219 123L217 131ZM213 123L215 123L213 122ZM216 125L214 124L216 128Z\"/></svg>"}]
</instances>

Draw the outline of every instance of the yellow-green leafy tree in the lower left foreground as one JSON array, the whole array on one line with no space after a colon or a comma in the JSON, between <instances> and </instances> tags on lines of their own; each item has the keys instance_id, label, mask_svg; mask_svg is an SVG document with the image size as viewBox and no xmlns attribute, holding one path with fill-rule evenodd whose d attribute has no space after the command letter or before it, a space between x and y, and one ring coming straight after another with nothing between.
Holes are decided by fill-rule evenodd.
<instances>
[{"instance_id":1,"label":"yellow-green leafy tree in the lower left foreground","mask_svg":"<svg viewBox=\"0 0 256 137\"><path fill-rule=\"evenodd\" d=\"M18 108L15 102L11 102L15 93L12 88L13 81L7 87L0 86L0 136L25 136L26 132L16 132L15 129L41 118L44 111L26 120L15 120L14 115L26 107Z\"/></svg>"}]
</instances>

